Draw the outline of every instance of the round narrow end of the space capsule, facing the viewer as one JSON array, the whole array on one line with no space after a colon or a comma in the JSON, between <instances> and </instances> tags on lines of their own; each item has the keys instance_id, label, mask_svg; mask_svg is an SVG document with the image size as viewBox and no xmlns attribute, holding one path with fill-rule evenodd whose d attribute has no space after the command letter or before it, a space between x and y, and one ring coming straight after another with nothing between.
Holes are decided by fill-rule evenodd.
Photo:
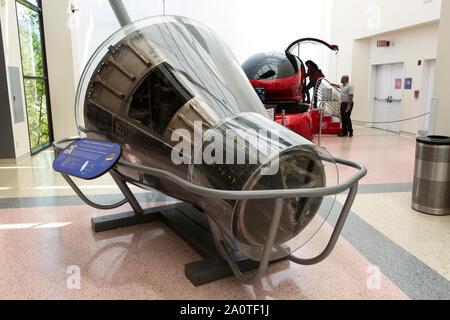
<instances>
[{"instance_id":1,"label":"round narrow end of the space capsule, facing the viewer","mask_svg":"<svg viewBox=\"0 0 450 320\"><path fill-rule=\"evenodd\" d=\"M244 190L282 190L321 188L326 185L324 167L309 147L290 150L279 159L276 175L258 175L257 172ZM290 241L303 231L317 214L322 198L285 199L280 227L275 244ZM234 218L234 235L248 245L265 244L272 221L273 200L243 200L237 205Z\"/></svg>"}]
</instances>

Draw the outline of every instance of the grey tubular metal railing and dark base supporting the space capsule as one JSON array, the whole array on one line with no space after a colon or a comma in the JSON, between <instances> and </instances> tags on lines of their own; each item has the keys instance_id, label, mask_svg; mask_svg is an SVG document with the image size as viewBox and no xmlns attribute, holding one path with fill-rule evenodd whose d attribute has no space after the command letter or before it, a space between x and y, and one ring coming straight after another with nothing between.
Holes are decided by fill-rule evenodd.
<instances>
[{"instance_id":1,"label":"grey tubular metal railing and dark base supporting the space capsule","mask_svg":"<svg viewBox=\"0 0 450 320\"><path fill-rule=\"evenodd\" d=\"M72 137L55 141L53 144L55 155L58 155L64 148L59 145L66 142L79 140L80 137ZM345 205L340 213L338 222L330 238L326 249L313 259L301 259L295 255L288 255L285 258L292 262L302 265L317 264L326 259L334 249L336 242L341 234L350 208L355 199L358 182L367 174L367 169L358 163L343 159L329 159L321 157L323 161L334 162L349 166L358 170L353 177L345 183L328 188L315 189L288 189L288 190L264 190L264 191L224 191L208 189L194 185L170 172L140 166L124 161L119 161L121 166L134 169L137 172L151 175L155 178L163 178L186 189L199 196L207 196L216 199L225 200L262 200L273 199L275 201L275 209L271 221L267 240L260 262L255 262L245 257L233 243L227 238L220 227L210 219L205 213L200 212L191 205L186 203L165 205L161 207L144 210L136 197L126 184L126 180L114 168L110 171L114 181L123 193L125 199L111 205L100 205L90 201L73 180L66 174L62 174L64 179L72 187L75 193L89 206L100 210L110 210L118 208L129 203L133 211L104 217L93 218L92 228L95 232L102 232L122 227L128 227L136 224L147 223L151 221L161 220L174 230L181 238L192 246L204 259L193 262L185 266L186 277L195 285L201 285L211 281L215 281L234 274L245 284L253 284L259 280L266 272L270 261L272 248L274 247L276 233L279 228L280 218L282 214L283 201L288 198L313 198L336 195L344 191L350 190ZM284 259L281 259L284 260ZM280 260L278 260L280 261ZM248 278L243 272L257 269L255 274Z\"/></svg>"}]
</instances>

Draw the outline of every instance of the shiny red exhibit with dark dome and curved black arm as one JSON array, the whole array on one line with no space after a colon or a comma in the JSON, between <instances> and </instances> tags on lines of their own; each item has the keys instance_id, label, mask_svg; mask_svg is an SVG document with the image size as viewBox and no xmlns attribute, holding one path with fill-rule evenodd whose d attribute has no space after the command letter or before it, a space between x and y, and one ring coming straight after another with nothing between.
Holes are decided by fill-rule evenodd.
<instances>
[{"instance_id":1,"label":"shiny red exhibit with dark dome and curved black arm","mask_svg":"<svg viewBox=\"0 0 450 320\"><path fill-rule=\"evenodd\" d=\"M312 43L326 46L334 52L337 45L330 45L323 40L303 38L293 42L284 52L256 54L244 62L242 68L250 83L267 108L275 108L276 122L312 140L319 133L319 111L311 105L302 103L302 91L306 86L306 68L300 57L292 49L300 44ZM340 134L340 122L332 117L323 117L322 133Z\"/></svg>"}]
</instances>

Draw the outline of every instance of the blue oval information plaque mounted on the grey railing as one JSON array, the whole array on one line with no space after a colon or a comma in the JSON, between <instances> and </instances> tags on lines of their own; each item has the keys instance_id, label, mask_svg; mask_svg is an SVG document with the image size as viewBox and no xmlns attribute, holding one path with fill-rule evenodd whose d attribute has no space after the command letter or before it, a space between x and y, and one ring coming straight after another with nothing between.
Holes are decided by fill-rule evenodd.
<instances>
[{"instance_id":1,"label":"blue oval information plaque mounted on the grey railing","mask_svg":"<svg viewBox=\"0 0 450 320\"><path fill-rule=\"evenodd\" d=\"M119 161L122 149L118 144L82 139L70 144L53 162L55 171L85 180L96 179Z\"/></svg>"}]
</instances>

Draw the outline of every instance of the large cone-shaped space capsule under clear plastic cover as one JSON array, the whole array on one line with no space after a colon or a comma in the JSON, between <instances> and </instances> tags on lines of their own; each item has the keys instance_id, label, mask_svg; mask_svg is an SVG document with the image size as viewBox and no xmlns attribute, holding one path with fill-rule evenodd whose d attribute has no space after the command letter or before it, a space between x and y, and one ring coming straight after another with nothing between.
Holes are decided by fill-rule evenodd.
<instances>
[{"instance_id":1,"label":"large cone-shaped space capsule under clear plastic cover","mask_svg":"<svg viewBox=\"0 0 450 320\"><path fill-rule=\"evenodd\" d=\"M227 45L188 18L146 18L108 38L82 74L76 120L80 135L119 144L124 161L202 187L249 191L327 185L316 146L269 119ZM206 159L212 142L223 150L214 149ZM129 183L201 208L241 252L260 259L273 200L212 199L120 163L116 171ZM284 200L272 258L286 256L283 244L308 226L322 201Z\"/></svg>"}]
</instances>

